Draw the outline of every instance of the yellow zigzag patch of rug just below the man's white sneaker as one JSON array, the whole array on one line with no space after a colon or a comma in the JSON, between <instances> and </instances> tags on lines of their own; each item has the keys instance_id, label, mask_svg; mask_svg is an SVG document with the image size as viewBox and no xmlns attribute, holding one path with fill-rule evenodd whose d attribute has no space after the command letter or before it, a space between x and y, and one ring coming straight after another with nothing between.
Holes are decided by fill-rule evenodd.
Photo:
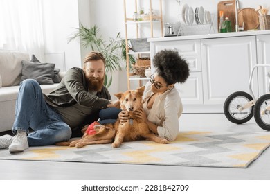
<instances>
[{"instance_id":1,"label":"yellow zigzag patch of rug just below the man's white sneaker","mask_svg":"<svg viewBox=\"0 0 270 194\"><path fill-rule=\"evenodd\" d=\"M30 152L35 153L36 157L27 157L23 159L52 159L52 158L58 158L61 157L61 155L57 155L55 151L59 150L66 150L66 149L74 149L71 147L55 147L55 148L43 148L43 149L37 149L37 150L30 150Z\"/></svg>"}]
</instances>

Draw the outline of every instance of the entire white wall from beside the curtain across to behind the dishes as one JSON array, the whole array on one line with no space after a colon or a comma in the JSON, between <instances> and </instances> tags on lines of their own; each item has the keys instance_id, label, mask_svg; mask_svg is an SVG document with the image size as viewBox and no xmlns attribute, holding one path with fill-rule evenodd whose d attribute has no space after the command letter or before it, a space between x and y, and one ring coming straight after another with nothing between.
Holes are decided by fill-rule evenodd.
<instances>
[{"instance_id":1,"label":"entire white wall from beside the curtain across to behind the dishes","mask_svg":"<svg viewBox=\"0 0 270 194\"><path fill-rule=\"evenodd\" d=\"M125 38L124 9L123 0L44 0L44 35L46 53L65 53L66 70L71 67L81 67L82 59L89 53L89 49L82 48L79 42L70 42L68 39L74 28L78 28L79 21L84 26L98 25L100 34L105 39L107 37L116 37L120 32ZM153 8L159 8L159 0L152 0ZM181 13L182 6L188 3L192 8L204 6L205 10L213 12L217 18L218 0L184 0L181 5L176 0L163 0L163 21L177 22L178 15ZM270 0L240 0L240 8L251 7L258 8L259 5L270 8ZM134 1L127 1L127 15L132 17L134 12ZM148 0L141 0L138 7L143 7L145 12L149 9ZM215 29L217 30L217 19L215 19ZM159 37L159 26L156 26L154 37ZM145 36L149 35L143 32ZM134 37L134 30L129 31L130 37ZM127 89L127 75L125 72L125 62L123 62L123 71L113 74L113 85L109 88L111 94ZM135 83L133 83L135 85Z\"/></svg>"}]
</instances>

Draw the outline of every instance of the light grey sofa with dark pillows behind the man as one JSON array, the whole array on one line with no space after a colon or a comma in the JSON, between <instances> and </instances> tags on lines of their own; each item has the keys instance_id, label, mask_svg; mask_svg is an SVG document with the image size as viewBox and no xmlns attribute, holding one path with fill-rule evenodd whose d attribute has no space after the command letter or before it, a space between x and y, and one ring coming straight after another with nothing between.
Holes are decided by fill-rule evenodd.
<instances>
[{"instance_id":1,"label":"light grey sofa with dark pillows behind the man","mask_svg":"<svg viewBox=\"0 0 270 194\"><path fill-rule=\"evenodd\" d=\"M36 67L46 68L45 71L49 70L46 74L43 73L44 69L35 69ZM42 71L39 72L43 74L43 78L39 84L42 83L40 86L43 93L48 94L58 85L57 82L52 82L55 75L53 77L49 75L51 71L55 74L54 67L55 64L40 63L36 58L35 62L30 61L28 53L0 50L0 132L5 132L12 128L15 118L15 102L21 80L31 78L31 76L35 75L36 70ZM42 82L44 76L47 77L45 82ZM59 82L64 76L64 72L57 71L56 76ZM49 84L46 84L46 82Z\"/></svg>"}]
</instances>

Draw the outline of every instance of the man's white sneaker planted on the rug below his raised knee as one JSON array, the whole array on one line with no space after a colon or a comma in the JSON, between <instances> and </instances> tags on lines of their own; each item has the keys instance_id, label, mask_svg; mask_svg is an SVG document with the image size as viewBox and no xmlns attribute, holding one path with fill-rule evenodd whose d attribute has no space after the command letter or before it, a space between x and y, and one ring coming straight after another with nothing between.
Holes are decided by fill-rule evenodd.
<instances>
[{"instance_id":1,"label":"man's white sneaker planted on the rug below his raised knee","mask_svg":"<svg viewBox=\"0 0 270 194\"><path fill-rule=\"evenodd\" d=\"M22 152L29 148L26 132L17 130L17 134L13 137L12 143L9 146L11 152Z\"/></svg>"}]
</instances>

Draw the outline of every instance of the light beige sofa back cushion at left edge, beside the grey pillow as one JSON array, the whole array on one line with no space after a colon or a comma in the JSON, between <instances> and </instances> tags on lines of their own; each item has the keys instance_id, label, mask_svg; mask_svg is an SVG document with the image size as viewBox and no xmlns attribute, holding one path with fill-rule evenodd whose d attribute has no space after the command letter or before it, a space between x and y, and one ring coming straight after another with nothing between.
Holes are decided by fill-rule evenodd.
<instances>
[{"instance_id":1,"label":"light beige sofa back cushion at left edge, beside the grey pillow","mask_svg":"<svg viewBox=\"0 0 270 194\"><path fill-rule=\"evenodd\" d=\"M19 85L21 82L21 60L29 60L28 53L0 51L0 76L2 87Z\"/></svg>"}]
</instances>

